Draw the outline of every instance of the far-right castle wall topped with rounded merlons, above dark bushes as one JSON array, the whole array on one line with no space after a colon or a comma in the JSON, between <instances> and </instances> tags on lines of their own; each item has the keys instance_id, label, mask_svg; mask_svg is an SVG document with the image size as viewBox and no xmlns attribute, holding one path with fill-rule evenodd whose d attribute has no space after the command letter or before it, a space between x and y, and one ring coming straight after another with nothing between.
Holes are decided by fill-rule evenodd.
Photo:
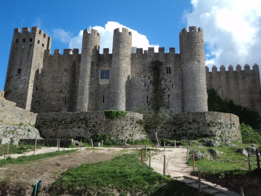
<instances>
[{"instance_id":1,"label":"far-right castle wall topped with rounded merlons, above dark bushes","mask_svg":"<svg viewBox=\"0 0 261 196\"><path fill-rule=\"evenodd\" d=\"M261 115L261 87L258 65L255 64L253 69L246 64L244 70L237 65L236 70L233 66L229 66L229 70L225 70L225 66L212 67L209 72L206 67L207 88L214 88L222 99L233 100L235 104L249 107Z\"/></svg>"}]
</instances>

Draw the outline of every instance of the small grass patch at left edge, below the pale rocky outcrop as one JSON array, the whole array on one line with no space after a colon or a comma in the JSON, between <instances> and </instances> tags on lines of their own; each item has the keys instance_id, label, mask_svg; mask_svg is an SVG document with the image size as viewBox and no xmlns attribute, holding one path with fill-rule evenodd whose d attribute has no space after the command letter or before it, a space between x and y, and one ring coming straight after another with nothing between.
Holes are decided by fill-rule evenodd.
<instances>
[{"instance_id":1,"label":"small grass patch at left edge, below the pale rocky outcrop","mask_svg":"<svg viewBox=\"0 0 261 196\"><path fill-rule=\"evenodd\" d=\"M36 148L42 148L42 147L43 147L43 145L36 145ZM4 155L6 148L7 148L7 144L0 145L0 156ZM35 148L34 145L9 144L9 154L22 154L22 153L30 152L31 150L34 150L34 148Z\"/></svg>"}]
</instances>

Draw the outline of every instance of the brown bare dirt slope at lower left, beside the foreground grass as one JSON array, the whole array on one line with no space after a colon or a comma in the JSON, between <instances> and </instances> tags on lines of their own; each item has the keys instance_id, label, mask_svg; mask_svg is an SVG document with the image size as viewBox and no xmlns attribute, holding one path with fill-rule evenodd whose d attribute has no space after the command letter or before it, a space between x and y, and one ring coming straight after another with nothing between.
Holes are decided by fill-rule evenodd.
<instances>
[{"instance_id":1,"label":"brown bare dirt slope at lower left, beside the foreground grass","mask_svg":"<svg viewBox=\"0 0 261 196\"><path fill-rule=\"evenodd\" d=\"M6 165L0 168L0 195L31 195L35 183L42 181L40 191L44 194L63 171L77 167L83 163L96 163L117 156L121 148L79 149L76 153L60 157L50 157L43 160L28 162L21 165ZM6 187L8 187L8 190ZM12 187L12 188L10 188Z\"/></svg>"}]
</instances>

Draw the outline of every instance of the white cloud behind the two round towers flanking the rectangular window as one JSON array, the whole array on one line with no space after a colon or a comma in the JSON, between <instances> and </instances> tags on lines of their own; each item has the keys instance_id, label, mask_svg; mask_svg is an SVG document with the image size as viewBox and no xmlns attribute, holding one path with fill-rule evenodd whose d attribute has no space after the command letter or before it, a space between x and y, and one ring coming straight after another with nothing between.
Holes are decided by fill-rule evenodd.
<instances>
[{"instance_id":1,"label":"white cloud behind the two round towers flanking the rectangular window","mask_svg":"<svg viewBox=\"0 0 261 196\"><path fill-rule=\"evenodd\" d=\"M155 52L158 52L159 45L150 44L149 40L145 35L142 35L136 30L133 30L129 27L121 25L118 22L108 21L104 27L94 26L94 27L89 27L88 30L90 32L90 28L94 28L101 34L100 53L103 53L103 48L109 48L109 52L111 53L112 42L113 42L113 30L115 28L121 29L122 27L128 28L129 31L132 32L132 46L143 48L144 50L147 50L148 47L155 47ZM83 30L81 30L77 36L72 37L69 41L69 47L79 48L79 52L80 52L82 47L82 35L83 35Z\"/></svg>"}]
</instances>

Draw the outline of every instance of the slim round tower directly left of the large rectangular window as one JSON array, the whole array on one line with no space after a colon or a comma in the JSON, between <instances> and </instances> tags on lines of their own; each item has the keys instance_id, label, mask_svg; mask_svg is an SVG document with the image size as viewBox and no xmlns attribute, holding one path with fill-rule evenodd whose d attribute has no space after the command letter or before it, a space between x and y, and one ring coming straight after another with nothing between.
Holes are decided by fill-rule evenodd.
<instances>
[{"instance_id":1,"label":"slim round tower directly left of the large rectangular window","mask_svg":"<svg viewBox=\"0 0 261 196\"><path fill-rule=\"evenodd\" d=\"M97 30L83 32L82 54L77 95L77 111L95 111L99 78L100 34Z\"/></svg>"}]
</instances>

